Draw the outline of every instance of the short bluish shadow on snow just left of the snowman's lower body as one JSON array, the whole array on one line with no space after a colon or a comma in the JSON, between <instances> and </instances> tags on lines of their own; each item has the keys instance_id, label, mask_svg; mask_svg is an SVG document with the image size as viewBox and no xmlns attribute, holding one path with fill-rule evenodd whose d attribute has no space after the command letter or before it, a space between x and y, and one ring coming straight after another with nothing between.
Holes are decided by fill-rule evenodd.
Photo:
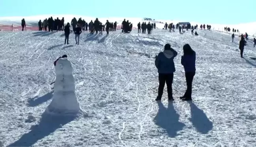
<instances>
[{"instance_id":1,"label":"short bluish shadow on snow just left of the snowman's lower body","mask_svg":"<svg viewBox=\"0 0 256 147\"><path fill-rule=\"evenodd\" d=\"M53 97L53 92L54 91L51 91L41 97L34 97L32 99L29 99L28 106L34 107L34 106L38 106L38 105L42 104L43 102L47 102L48 100L50 100Z\"/></svg>"}]
</instances>

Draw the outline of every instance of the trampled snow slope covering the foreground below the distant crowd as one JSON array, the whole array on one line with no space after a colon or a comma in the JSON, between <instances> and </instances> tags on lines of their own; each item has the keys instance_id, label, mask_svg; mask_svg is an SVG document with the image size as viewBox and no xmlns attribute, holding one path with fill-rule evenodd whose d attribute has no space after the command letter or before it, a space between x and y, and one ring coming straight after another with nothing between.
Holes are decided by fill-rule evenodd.
<instances>
[{"instance_id":1,"label":"trampled snow slope covering the foreground below the distant crowd","mask_svg":"<svg viewBox=\"0 0 256 147\"><path fill-rule=\"evenodd\" d=\"M256 56L252 43L239 57L230 35L200 31L180 35L110 32L81 34L64 45L63 32L0 32L0 141L4 147L255 147ZM157 96L154 57L170 43L177 50L175 101ZM197 52L193 103L180 60L189 43ZM66 120L41 114L51 102L53 61L73 66L77 99L85 113ZM34 121L26 121L30 116ZM40 120L41 119L41 120ZM54 121L53 121L54 120Z\"/></svg>"}]
</instances>

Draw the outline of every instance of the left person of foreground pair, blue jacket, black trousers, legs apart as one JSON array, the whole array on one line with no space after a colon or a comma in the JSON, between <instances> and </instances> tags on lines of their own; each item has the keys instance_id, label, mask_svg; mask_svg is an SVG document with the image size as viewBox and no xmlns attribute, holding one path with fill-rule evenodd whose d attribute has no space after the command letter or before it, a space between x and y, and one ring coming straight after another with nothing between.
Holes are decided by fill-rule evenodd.
<instances>
[{"instance_id":1,"label":"left person of foreground pair, blue jacket, black trousers, legs apart","mask_svg":"<svg viewBox=\"0 0 256 147\"><path fill-rule=\"evenodd\" d=\"M156 56L155 65L158 70L158 96L156 100L161 100L164 90L164 85L166 82L168 91L168 100L173 100L172 95L172 83L173 83L173 73L175 72L175 64L173 59L177 56L177 52L171 48L170 44L164 46L164 51L160 52Z\"/></svg>"}]
</instances>

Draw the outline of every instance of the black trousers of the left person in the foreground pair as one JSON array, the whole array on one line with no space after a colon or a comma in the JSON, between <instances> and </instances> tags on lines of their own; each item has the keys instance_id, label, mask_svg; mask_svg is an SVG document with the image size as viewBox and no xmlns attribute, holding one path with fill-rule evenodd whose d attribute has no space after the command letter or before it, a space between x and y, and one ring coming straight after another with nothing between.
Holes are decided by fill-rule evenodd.
<instances>
[{"instance_id":1,"label":"black trousers of the left person in the foreground pair","mask_svg":"<svg viewBox=\"0 0 256 147\"><path fill-rule=\"evenodd\" d=\"M164 85L167 85L168 99L172 99L172 82L173 82L173 73L172 74L158 74L159 87L158 87L158 98L162 98Z\"/></svg>"}]
</instances>

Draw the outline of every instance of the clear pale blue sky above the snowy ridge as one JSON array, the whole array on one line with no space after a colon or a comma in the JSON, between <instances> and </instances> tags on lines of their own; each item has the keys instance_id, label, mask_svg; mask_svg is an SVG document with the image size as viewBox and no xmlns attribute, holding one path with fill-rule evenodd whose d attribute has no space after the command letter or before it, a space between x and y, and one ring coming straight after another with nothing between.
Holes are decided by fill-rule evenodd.
<instances>
[{"instance_id":1,"label":"clear pale blue sky above the snowy ridge","mask_svg":"<svg viewBox=\"0 0 256 147\"><path fill-rule=\"evenodd\" d=\"M0 16L74 14L238 24L256 21L255 6L256 0L0 0Z\"/></svg>"}]
</instances>

